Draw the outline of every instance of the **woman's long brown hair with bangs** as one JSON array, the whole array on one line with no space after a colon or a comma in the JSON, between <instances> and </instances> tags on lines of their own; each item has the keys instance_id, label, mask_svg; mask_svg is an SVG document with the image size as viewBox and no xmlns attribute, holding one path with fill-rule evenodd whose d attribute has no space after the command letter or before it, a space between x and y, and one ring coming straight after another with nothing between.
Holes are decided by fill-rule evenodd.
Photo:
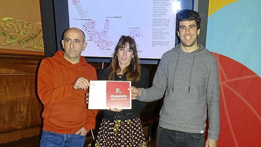
<instances>
[{"instance_id":1,"label":"woman's long brown hair with bangs","mask_svg":"<svg viewBox=\"0 0 261 147\"><path fill-rule=\"evenodd\" d=\"M133 59L131 59L130 65L128 65L123 71L121 71L119 66L119 61L117 58L117 51L120 48L124 48L127 42L129 43L130 50L133 51L134 57ZM131 82L137 82L141 78L141 66L139 64L139 57L137 53L136 43L133 38L124 35L120 37L120 40L117 43L114 53L112 55L112 60L109 68L112 70L112 72L109 75L109 80L114 80L114 76L117 72L125 73L126 74L125 80Z\"/></svg>"}]
</instances>

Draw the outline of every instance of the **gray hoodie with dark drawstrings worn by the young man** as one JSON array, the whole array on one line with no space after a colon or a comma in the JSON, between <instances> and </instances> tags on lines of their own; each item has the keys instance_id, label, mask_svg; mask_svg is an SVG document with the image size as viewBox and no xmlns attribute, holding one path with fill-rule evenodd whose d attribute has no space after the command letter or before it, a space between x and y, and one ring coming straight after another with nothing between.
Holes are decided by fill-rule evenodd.
<instances>
[{"instance_id":1,"label":"gray hoodie with dark drawstrings worn by the young man","mask_svg":"<svg viewBox=\"0 0 261 147\"><path fill-rule=\"evenodd\" d=\"M159 126L171 130L203 133L208 108L208 138L219 136L219 80L217 60L199 45L187 53L180 44L163 54L151 88L141 88L140 101L161 99Z\"/></svg>"}]
</instances>

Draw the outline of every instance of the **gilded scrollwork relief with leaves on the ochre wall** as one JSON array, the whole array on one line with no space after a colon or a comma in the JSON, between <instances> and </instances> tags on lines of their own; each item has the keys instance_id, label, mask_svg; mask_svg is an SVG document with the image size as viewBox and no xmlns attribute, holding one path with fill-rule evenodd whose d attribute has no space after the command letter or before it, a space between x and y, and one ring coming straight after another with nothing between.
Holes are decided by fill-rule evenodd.
<instances>
[{"instance_id":1,"label":"gilded scrollwork relief with leaves on the ochre wall","mask_svg":"<svg viewBox=\"0 0 261 147\"><path fill-rule=\"evenodd\" d=\"M23 20L2 18L0 22L0 45L13 48L17 44L21 49L44 50L42 23L31 24Z\"/></svg>"}]
</instances>

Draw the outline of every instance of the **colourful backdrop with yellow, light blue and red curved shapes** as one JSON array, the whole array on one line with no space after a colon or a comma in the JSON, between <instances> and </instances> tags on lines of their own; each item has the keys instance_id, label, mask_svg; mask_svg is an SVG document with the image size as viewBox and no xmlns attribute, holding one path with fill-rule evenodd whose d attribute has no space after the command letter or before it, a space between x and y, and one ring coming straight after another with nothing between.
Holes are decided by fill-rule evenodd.
<instances>
[{"instance_id":1,"label":"colourful backdrop with yellow, light blue and red curved shapes","mask_svg":"<svg viewBox=\"0 0 261 147\"><path fill-rule=\"evenodd\" d=\"M206 48L219 68L218 147L261 145L260 0L209 0Z\"/></svg>"}]
</instances>

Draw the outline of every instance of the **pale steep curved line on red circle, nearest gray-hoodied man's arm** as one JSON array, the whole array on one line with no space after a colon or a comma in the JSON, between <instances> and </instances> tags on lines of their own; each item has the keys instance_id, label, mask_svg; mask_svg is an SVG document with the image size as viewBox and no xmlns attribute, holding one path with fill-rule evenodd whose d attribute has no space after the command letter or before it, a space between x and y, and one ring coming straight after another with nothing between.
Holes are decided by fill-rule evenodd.
<instances>
[{"instance_id":1,"label":"pale steep curved line on red circle, nearest gray-hoodied man's arm","mask_svg":"<svg viewBox=\"0 0 261 147\"><path fill-rule=\"evenodd\" d=\"M222 65L220 64L219 55L218 54L215 54L215 55L216 55L216 58L217 58L218 75L219 75L219 77L221 77ZM223 84L222 84L221 78L219 78L219 84L220 84L220 88L221 88L220 91L221 91L221 94L222 94L222 100L223 100L223 104L224 104L224 109L225 109L225 114L226 114L226 117L227 117L227 122L228 122L228 125L229 125L229 129L230 129L230 132L232 134L232 138L234 140L235 146L239 147L237 139L235 137L235 132L233 130L232 123L231 123L231 120L230 120L230 117L229 117L229 114L228 114L227 104L226 104L226 99L225 99L225 93L224 93L224 88L223 88Z\"/></svg>"}]
</instances>

